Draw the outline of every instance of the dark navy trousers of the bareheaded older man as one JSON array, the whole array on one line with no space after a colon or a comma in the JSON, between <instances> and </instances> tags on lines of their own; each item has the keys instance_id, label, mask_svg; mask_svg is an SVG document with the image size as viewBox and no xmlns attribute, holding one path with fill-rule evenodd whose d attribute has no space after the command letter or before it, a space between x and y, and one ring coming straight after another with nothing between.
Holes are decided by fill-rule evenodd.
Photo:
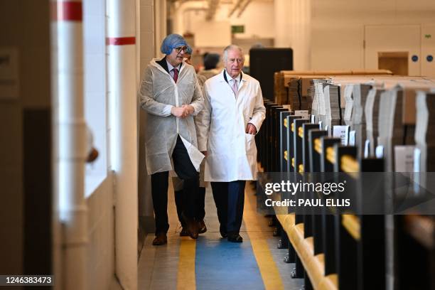
<instances>
[{"instance_id":1,"label":"dark navy trousers of the bareheaded older man","mask_svg":"<svg viewBox=\"0 0 435 290\"><path fill-rule=\"evenodd\" d=\"M242 227L246 181L212 182L220 231L237 235Z\"/></svg>"}]
</instances>

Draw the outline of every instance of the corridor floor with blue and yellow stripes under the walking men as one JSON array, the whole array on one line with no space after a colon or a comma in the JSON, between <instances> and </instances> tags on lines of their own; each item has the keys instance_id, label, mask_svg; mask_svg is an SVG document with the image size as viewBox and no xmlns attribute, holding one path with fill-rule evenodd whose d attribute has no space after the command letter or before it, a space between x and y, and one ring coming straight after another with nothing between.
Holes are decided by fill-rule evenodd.
<instances>
[{"instance_id":1,"label":"corridor floor with blue and yellow stripes under the walking men","mask_svg":"<svg viewBox=\"0 0 435 290\"><path fill-rule=\"evenodd\" d=\"M171 188L171 184L170 184ZM205 194L205 224L208 231L192 240L180 237L173 191L168 193L171 225L168 244L151 245L147 235L139 259L139 289L301 289L303 279L291 279L294 264L286 264L286 249L277 249L269 220L257 213L254 190L247 183L242 243L227 242L219 222L211 188Z\"/></svg>"}]
</instances>

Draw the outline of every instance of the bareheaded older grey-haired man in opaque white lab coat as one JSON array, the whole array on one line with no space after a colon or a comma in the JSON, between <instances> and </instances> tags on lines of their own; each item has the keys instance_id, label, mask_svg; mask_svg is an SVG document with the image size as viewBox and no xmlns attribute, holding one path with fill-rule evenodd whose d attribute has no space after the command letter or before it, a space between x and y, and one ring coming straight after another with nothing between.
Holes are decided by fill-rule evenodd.
<instances>
[{"instance_id":1,"label":"bareheaded older grey-haired man in opaque white lab coat","mask_svg":"<svg viewBox=\"0 0 435 290\"><path fill-rule=\"evenodd\" d=\"M246 181L257 179L254 136L265 117L259 82L242 73L242 49L224 50L225 69L205 82L205 107L197 118L198 149L205 154L205 181L211 181L220 234L242 242Z\"/></svg>"}]
</instances>

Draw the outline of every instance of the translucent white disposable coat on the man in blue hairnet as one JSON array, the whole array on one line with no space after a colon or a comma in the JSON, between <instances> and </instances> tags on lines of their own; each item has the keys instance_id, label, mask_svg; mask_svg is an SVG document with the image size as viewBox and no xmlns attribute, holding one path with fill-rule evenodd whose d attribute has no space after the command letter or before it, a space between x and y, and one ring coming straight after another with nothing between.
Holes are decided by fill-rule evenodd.
<instances>
[{"instance_id":1,"label":"translucent white disposable coat on the man in blue hairnet","mask_svg":"<svg viewBox=\"0 0 435 290\"><path fill-rule=\"evenodd\" d=\"M141 107L148 113L145 129L148 174L173 170L171 156L178 135L181 136L190 161L198 171L204 156L197 148L193 116L203 109L204 99L193 66L183 63L176 83L171 75L156 63L156 59L151 60L141 82L139 97ZM195 108L193 115L186 118L173 116L170 107L183 104L190 104Z\"/></svg>"}]
</instances>

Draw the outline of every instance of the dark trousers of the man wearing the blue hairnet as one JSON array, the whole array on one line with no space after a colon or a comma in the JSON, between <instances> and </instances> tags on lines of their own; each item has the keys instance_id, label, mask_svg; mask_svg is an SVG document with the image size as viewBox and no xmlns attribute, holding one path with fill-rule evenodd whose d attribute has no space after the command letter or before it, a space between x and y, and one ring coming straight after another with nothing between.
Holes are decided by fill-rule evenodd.
<instances>
[{"instance_id":1,"label":"dark trousers of the man wearing the blue hairnet","mask_svg":"<svg viewBox=\"0 0 435 290\"><path fill-rule=\"evenodd\" d=\"M174 171L184 181L183 213L187 218L195 218L199 173L196 171L195 166L193 166L192 161L190 161L180 136L178 136L176 146L173 149L172 161ZM168 177L168 171L151 174L151 195L153 197L154 215L156 218L156 234L159 232L166 233L169 229Z\"/></svg>"}]
</instances>

